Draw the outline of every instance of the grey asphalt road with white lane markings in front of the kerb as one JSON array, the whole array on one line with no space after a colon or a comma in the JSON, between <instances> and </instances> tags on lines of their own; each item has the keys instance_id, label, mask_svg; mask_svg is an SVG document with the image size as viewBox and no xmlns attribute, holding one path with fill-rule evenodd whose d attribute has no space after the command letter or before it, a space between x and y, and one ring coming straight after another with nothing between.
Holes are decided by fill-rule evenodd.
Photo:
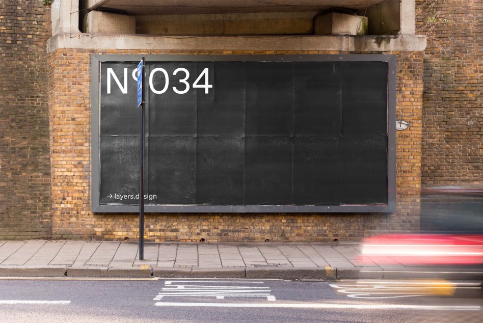
<instances>
[{"instance_id":1,"label":"grey asphalt road with white lane markings in front of the kerb","mask_svg":"<svg viewBox=\"0 0 483 323\"><path fill-rule=\"evenodd\" d=\"M0 279L0 321L480 323L478 284Z\"/></svg>"}]
</instances>

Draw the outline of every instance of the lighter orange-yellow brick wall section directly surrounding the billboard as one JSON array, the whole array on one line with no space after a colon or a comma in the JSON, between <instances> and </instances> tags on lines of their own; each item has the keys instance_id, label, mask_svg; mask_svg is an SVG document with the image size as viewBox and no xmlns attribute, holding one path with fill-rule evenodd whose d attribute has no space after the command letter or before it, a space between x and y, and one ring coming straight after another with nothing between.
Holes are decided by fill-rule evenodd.
<instances>
[{"instance_id":1,"label":"lighter orange-yellow brick wall section directly surrounding the billboard","mask_svg":"<svg viewBox=\"0 0 483 323\"><path fill-rule=\"evenodd\" d=\"M138 236L137 214L91 212L90 56L100 53L327 54L329 52L59 49L49 56L53 238L123 239ZM338 53L338 52L330 52ZM346 52L344 52L346 53ZM411 127L397 132L397 212L343 214L147 214L146 238L198 241L357 240L375 232L419 229L422 54L396 53L397 118Z\"/></svg>"}]
</instances>

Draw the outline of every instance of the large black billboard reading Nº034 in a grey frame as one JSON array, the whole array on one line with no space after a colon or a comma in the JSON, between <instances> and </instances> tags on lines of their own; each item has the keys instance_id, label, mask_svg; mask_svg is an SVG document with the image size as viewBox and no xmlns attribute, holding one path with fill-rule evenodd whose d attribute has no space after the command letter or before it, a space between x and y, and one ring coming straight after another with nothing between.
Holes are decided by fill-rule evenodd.
<instances>
[{"instance_id":1,"label":"large black billboard reading N\u00ba034 in a grey frame","mask_svg":"<svg viewBox=\"0 0 483 323\"><path fill-rule=\"evenodd\" d=\"M92 207L139 203L138 56L93 57ZM391 212L395 58L151 56L148 212Z\"/></svg>"}]
</instances>

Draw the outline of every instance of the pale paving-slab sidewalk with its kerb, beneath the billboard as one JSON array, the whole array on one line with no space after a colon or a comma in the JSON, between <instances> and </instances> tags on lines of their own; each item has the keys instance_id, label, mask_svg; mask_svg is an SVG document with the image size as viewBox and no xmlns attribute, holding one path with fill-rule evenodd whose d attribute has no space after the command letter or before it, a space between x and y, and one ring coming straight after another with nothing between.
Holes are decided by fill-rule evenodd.
<instances>
[{"instance_id":1,"label":"pale paving-slab sidewalk with its kerb, beneath the billboard","mask_svg":"<svg viewBox=\"0 0 483 323\"><path fill-rule=\"evenodd\" d=\"M428 268L363 262L360 251L351 243L146 243L145 260L139 261L137 243L9 240L0 241L0 276L335 280L412 278L415 271L417 278L428 276L422 273Z\"/></svg>"}]
</instances>

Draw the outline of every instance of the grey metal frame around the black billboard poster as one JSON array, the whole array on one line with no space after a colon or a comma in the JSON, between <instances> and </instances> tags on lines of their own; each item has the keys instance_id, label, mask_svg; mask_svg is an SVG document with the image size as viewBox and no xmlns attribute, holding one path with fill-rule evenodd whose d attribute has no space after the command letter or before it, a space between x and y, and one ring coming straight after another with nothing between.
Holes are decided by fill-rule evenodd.
<instances>
[{"instance_id":1,"label":"grey metal frame around the black billboard poster","mask_svg":"<svg viewBox=\"0 0 483 323\"><path fill-rule=\"evenodd\" d=\"M92 211L96 213L135 213L138 205L99 204L100 184L100 63L136 62L387 62L387 135L388 135L388 204L362 205L196 205L196 204L145 204L150 213L328 213L328 212L379 212L396 211L396 56L379 54L354 55L93 55L91 57L91 187ZM135 106L132 109L136 109Z\"/></svg>"}]
</instances>

